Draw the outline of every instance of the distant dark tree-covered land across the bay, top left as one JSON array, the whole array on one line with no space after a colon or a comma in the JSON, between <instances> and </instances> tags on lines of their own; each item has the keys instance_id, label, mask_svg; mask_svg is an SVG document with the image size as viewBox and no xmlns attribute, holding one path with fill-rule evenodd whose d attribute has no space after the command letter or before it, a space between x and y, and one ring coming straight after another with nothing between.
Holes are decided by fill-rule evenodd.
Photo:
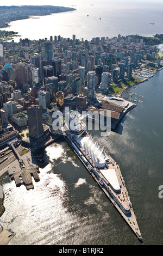
<instances>
[{"instance_id":1,"label":"distant dark tree-covered land across the bay, top left","mask_svg":"<svg viewBox=\"0 0 163 256\"><path fill-rule=\"evenodd\" d=\"M0 7L0 28L8 27L8 22L28 19L29 16L50 15L64 11L74 11L70 7L59 7L53 5L21 5L21 6L1 6Z\"/></svg>"}]
</instances>

